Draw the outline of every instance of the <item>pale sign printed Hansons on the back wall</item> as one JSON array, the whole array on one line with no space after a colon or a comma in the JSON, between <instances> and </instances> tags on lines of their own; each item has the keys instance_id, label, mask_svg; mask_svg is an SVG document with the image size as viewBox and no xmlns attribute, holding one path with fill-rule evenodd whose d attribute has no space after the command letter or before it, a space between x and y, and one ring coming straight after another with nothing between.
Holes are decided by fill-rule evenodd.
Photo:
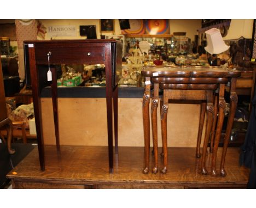
<instances>
[{"instance_id":1,"label":"pale sign printed Hansons on the back wall","mask_svg":"<svg viewBox=\"0 0 256 208\"><path fill-rule=\"evenodd\" d=\"M48 26L48 36L51 38L57 36L77 36L77 29L73 25L68 26Z\"/></svg>"}]
</instances>

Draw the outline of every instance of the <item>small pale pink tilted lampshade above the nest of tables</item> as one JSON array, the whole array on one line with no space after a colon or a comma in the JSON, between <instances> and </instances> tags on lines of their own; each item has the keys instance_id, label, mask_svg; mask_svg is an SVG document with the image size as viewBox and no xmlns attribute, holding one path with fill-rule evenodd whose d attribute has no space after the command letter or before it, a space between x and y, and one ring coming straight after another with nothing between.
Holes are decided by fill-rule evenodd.
<instances>
[{"instance_id":1,"label":"small pale pink tilted lampshade above the nest of tables","mask_svg":"<svg viewBox=\"0 0 256 208\"><path fill-rule=\"evenodd\" d=\"M228 50L230 46L227 46L223 41L222 34L219 29L211 28L205 32L207 39L207 46L205 50L210 54L219 54Z\"/></svg>"}]
</instances>

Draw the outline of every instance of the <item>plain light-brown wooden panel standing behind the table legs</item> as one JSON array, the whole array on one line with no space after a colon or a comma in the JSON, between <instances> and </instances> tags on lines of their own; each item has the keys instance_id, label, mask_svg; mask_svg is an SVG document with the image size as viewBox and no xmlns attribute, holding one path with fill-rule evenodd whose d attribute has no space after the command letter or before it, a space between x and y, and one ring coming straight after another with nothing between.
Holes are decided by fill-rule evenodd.
<instances>
[{"instance_id":1,"label":"plain light-brown wooden panel standing behind the table legs","mask_svg":"<svg viewBox=\"0 0 256 208\"><path fill-rule=\"evenodd\" d=\"M45 144L55 144L53 108L50 98L42 99ZM107 145L106 99L60 98L61 145ZM119 105L119 146L144 146L142 99L121 98ZM160 112L160 109L158 109ZM168 146L196 146L200 105L169 104ZM161 142L160 116L158 138ZM151 134L152 144L152 134Z\"/></svg>"}]
</instances>

